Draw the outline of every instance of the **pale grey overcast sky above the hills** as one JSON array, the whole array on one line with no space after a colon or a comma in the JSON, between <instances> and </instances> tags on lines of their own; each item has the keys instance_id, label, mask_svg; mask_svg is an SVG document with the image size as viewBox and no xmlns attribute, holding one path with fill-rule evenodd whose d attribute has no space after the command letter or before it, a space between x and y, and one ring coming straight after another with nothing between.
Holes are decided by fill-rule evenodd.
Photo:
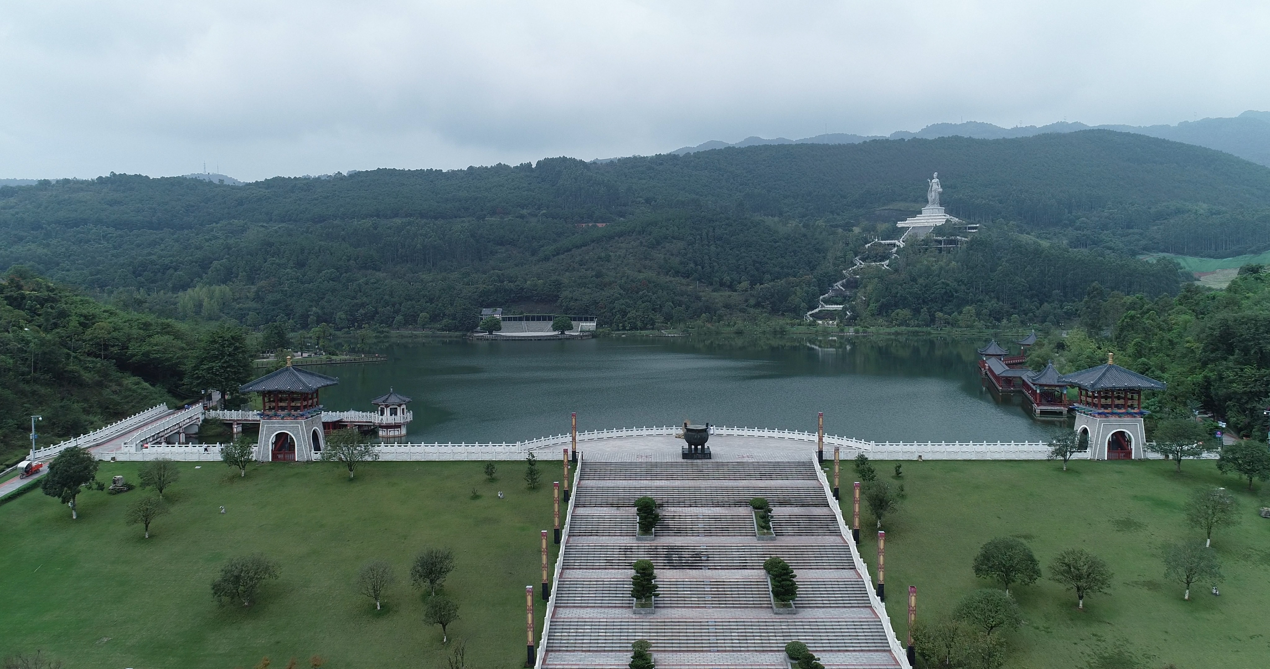
<instances>
[{"instance_id":1,"label":"pale grey overcast sky above the hills","mask_svg":"<svg viewBox=\"0 0 1270 669\"><path fill-rule=\"evenodd\" d=\"M1270 3L0 0L0 178L1270 109Z\"/></svg>"}]
</instances>

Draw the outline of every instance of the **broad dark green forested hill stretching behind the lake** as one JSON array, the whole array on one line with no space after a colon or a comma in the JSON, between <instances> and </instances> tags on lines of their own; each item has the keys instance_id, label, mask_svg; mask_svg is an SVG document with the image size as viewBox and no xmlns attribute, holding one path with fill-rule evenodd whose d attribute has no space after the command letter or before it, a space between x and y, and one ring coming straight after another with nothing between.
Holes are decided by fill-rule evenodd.
<instances>
[{"instance_id":1,"label":"broad dark green forested hill stretching behind the lake","mask_svg":"<svg viewBox=\"0 0 1270 669\"><path fill-rule=\"evenodd\" d=\"M253 326L467 329L480 306L593 314L618 329L796 317L864 244L895 235L936 170L949 211L988 225L983 242L937 263L897 264L909 274L898 292L865 286L862 295L885 296L917 322L923 311L935 321L968 306L983 321L1062 322L1091 281L1177 291L1170 265L1125 254L1270 245L1270 169L1088 131L607 164L560 157L240 187L138 175L3 187L0 268L27 264L124 306ZM999 259L1038 254L1044 272ZM923 282L941 297L918 297ZM876 307L867 315L889 317Z\"/></svg>"}]
</instances>

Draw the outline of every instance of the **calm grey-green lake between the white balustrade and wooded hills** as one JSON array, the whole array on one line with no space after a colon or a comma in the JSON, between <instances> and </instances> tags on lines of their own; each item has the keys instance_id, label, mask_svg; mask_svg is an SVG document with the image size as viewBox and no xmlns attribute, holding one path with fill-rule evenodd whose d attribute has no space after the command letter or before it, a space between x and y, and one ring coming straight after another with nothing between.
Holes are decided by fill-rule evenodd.
<instances>
[{"instance_id":1,"label":"calm grey-green lake between the white balustrade and wooded hills","mask_svg":"<svg viewBox=\"0 0 1270 669\"><path fill-rule=\"evenodd\" d=\"M859 336L744 347L679 338L434 340L382 347L389 362L324 366L329 410L370 410L395 387L414 399L411 442L514 442L578 429L719 425L815 430L871 440L1048 439L1017 402L982 388L982 341Z\"/></svg>"}]
</instances>

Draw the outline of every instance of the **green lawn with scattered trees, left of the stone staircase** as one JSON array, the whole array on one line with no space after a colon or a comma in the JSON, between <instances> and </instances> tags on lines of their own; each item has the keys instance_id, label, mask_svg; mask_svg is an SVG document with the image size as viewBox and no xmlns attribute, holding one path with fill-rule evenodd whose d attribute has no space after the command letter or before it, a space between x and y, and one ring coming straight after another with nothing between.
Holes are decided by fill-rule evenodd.
<instances>
[{"instance_id":1,"label":"green lawn with scattered trees, left of the stone staircase","mask_svg":"<svg viewBox=\"0 0 1270 669\"><path fill-rule=\"evenodd\" d=\"M493 484L483 465L377 462L348 481L328 463L259 465L239 479L218 462L183 462L171 514L150 540L123 522L149 491L85 493L79 520L28 493L0 507L0 655L42 649L67 666L112 669L250 668L265 655L274 668L291 658L307 668L314 654L326 668L444 666L448 646L422 622L408 570L420 550L450 547L457 566L444 592L460 604L451 644L466 640L470 666L521 666L525 586L541 583L538 531L551 528L559 475L544 462L546 485L528 491L523 462L499 462ZM136 482L136 468L103 462L98 479ZM481 499L470 499L474 487ZM281 578L249 609L216 604L220 566L257 551ZM371 559L396 567L382 612L356 586ZM538 632L545 608L536 599Z\"/></svg>"}]
</instances>

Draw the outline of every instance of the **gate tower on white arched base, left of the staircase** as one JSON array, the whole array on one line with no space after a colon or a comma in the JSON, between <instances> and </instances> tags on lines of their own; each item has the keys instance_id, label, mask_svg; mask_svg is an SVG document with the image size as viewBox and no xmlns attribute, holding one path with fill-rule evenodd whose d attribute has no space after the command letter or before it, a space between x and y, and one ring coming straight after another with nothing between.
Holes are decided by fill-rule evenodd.
<instances>
[{"instance_id":1,"label":"gate tower on white arched base, left of the staircase","mask_svg":"<svg viewBox=\"0 0 1270 669\"><path fill-rule=\"evenodd\" d=\"M291 364L251 381L239 392L260 394L260 438L257 460L307 462L321 457L325 446L323 406L318 394L339 378Z\"/></svg>"}]
</instances>

